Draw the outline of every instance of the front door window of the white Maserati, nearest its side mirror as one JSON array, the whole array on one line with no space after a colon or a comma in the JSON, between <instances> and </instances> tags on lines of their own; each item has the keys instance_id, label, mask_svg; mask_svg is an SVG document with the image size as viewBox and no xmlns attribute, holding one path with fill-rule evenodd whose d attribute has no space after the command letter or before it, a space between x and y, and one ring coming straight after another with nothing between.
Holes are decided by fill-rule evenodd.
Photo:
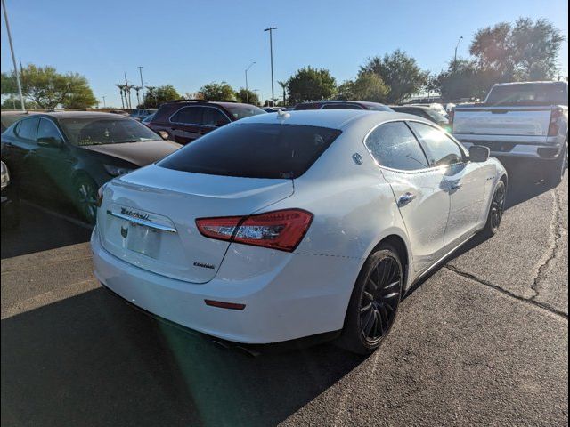
<instances>
[{"instance_id":1,"label":"front door window of the white Maserati, nearest its side mirror","mask_svg":"<svg viewBox=\"0 0 570 427\"><path fill-rule=\"evenodd\" d=\"M410 122L411 128L418 133L419 140L428 147L429 157L434 166L456 165L463 162L460 146L436 127L418 122Z\"/></svg>"}]
</instances>

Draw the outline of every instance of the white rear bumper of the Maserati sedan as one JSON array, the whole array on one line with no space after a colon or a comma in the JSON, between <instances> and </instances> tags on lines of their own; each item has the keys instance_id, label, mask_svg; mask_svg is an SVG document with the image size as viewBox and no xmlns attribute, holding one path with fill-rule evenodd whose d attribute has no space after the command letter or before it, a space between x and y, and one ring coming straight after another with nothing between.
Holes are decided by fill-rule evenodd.
<instances>
[{"instance_id":1,"label":"white rear bumper of the Maserati sedan","mask_svg":"<svg viewBox=\"0 0 570 427\"><path fill-rule=\"evenodd\" d=\"M226 278L223 268L206 284L192 284L119 260L91 238L94 274L115 294L160 318L231 342L273 343L341 329L361 260L285 254L276 271L253 278ZM257 250L253 246L240 251ZM227 256L227 255L226 255ZM280 256L280 254L276 254ZM224 265L224 264L223 264ZM221 276L221 277L220 277ZM238 277L239 275L236 275ZM245 304L244 310L204 300Z\"/></svg>"}]
</instances>

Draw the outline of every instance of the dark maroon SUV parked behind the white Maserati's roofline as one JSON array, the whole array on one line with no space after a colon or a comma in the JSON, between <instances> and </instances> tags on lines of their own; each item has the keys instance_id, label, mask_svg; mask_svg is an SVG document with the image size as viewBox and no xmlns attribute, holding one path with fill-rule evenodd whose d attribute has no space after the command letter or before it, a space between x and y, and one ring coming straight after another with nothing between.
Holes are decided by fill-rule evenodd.
<instances>
[{"instance_id":1,"label":"dark maroon SUV parked behind the white Maserati's roofline","mask_svg":"<svg viewBox=\"0 0 570 427\"><path fill-rule=\"evenodd\" d=\"M168 140L187 144L220 126L257 114L265 111L231 101L179 100L162 104L147 125L157 133L168 133L164 135Z\"/></svg>"}]
</instances>

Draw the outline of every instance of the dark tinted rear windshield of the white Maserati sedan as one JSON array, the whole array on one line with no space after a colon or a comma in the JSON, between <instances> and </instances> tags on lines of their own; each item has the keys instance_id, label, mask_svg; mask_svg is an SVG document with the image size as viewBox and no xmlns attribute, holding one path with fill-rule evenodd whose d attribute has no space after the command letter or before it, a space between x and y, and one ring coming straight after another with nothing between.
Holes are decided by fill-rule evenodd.
<instances>
[{"instance_id":1,"label":"dark tinted rear windshield of the white Maserati sedan","mask_svg":"<svg viewBox=\"0 0 570 427\"><path fill-rule=\"evenodd\" d=\"M294 179L341 131L327 127L236 123L208 133L158 163L176 171Z\"/></svg>"}]
</instances>

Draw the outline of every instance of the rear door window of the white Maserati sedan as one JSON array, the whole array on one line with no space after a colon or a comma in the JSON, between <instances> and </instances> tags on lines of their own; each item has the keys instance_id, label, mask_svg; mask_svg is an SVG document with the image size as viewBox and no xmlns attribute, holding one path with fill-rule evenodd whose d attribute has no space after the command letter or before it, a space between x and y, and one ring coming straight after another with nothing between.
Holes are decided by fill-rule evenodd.
<instances>
[{"instance_id":1,"label":"rear door window of the white Maserati sedan","mask_svg":"<svg viewBox=\"0 0 570 427\"><path fill-rule=\"evenodd\" d=\"M366 146L379 165L400 171L428 167L428 158L410 128L403 122L379 125L366 138Z\"/></svg>"}]
</instances>

